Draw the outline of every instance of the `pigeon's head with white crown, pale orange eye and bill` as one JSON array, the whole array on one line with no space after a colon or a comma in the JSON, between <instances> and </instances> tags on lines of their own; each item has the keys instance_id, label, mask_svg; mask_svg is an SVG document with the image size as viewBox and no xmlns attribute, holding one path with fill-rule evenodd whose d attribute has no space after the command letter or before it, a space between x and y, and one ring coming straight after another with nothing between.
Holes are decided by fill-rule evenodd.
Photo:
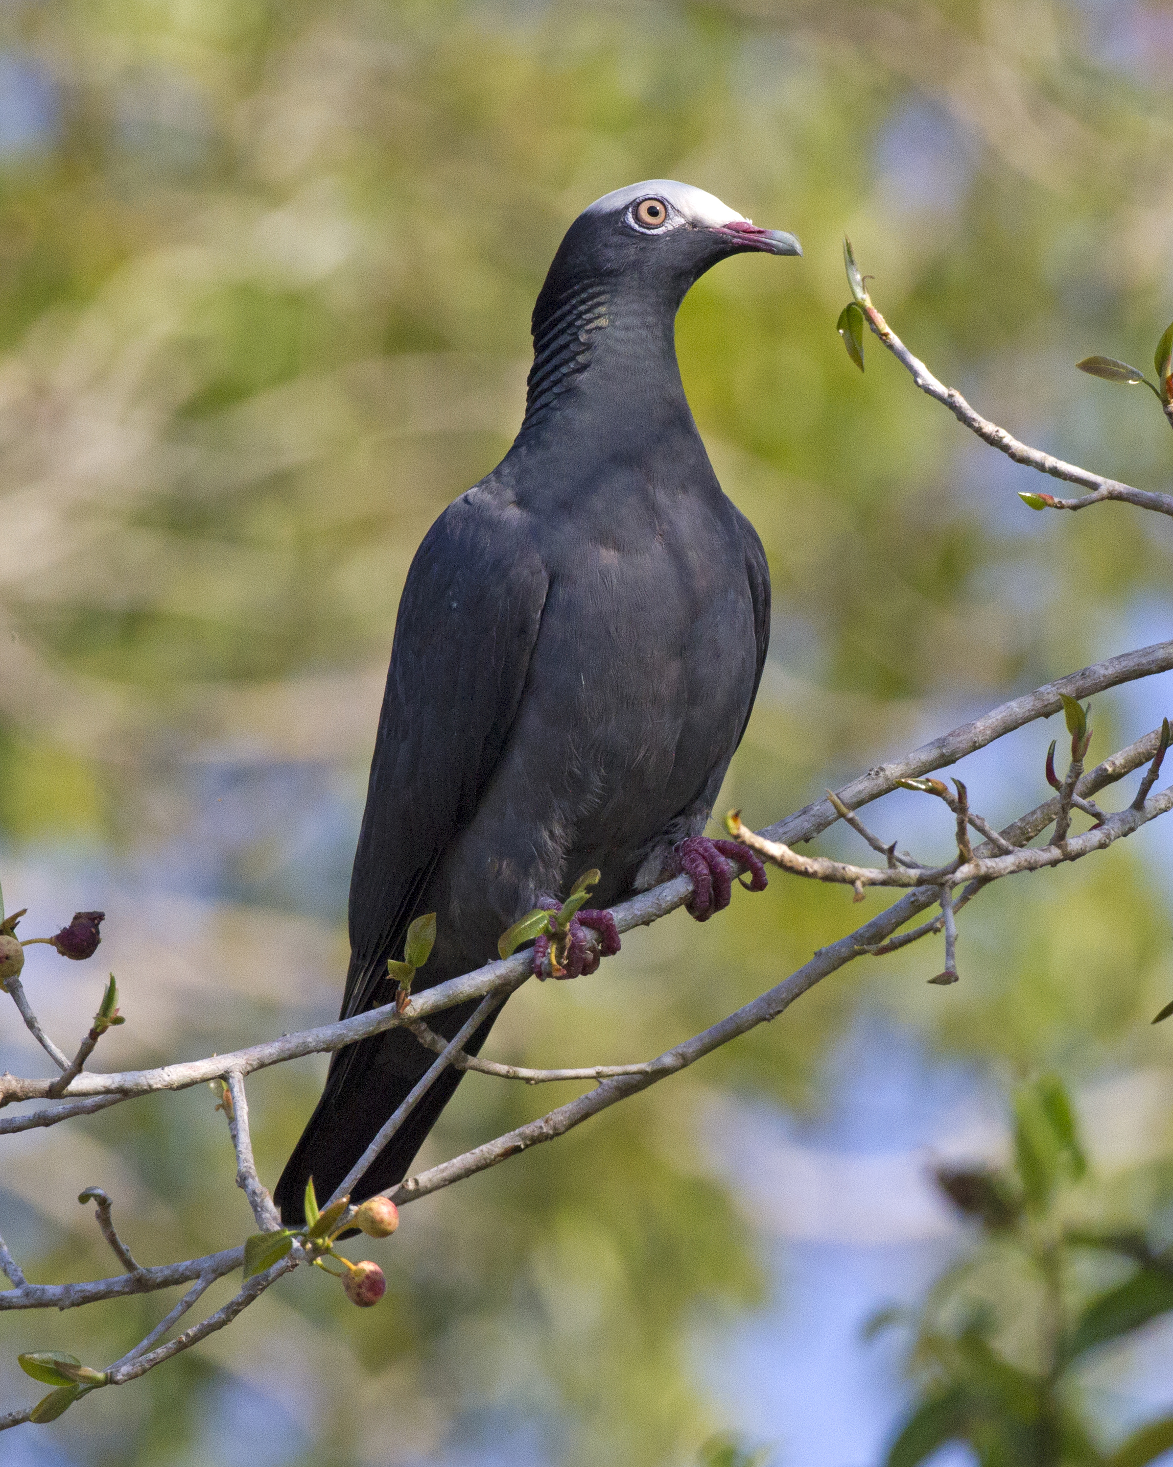
<instances>
[{"instance_id":1,"label":"pigeon's head with white crown, pale orange eye and bill","mask_svg":"<svg viewBox=\"0 0 1173 1467\"><path fill-rule=\"evenodd\" d=\"M674 308L718 260L751 252L801 255L802 246L780 229L760 229L704 189L650 179L604 194L579 214L550 267L547 290L626 285Z\"/></svg>"}]
</instances>

